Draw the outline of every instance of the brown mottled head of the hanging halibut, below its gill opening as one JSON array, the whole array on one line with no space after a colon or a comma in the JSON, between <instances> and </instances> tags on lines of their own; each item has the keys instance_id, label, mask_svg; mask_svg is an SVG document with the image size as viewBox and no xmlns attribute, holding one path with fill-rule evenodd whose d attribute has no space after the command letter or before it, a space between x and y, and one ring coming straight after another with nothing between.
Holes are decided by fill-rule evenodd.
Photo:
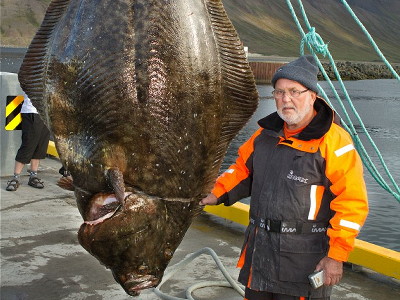
<instances>
[{"instance_id":1,"label":"brown mottled head of the hanging halibut, below its gill opening","mask_svg":"<svg viewBox=\"0 0 400 300\"><path fill-rule=\"evenodd\" d=\"M83 224L79 242L135 296L161 281L196 206L195 202L160 201L133 193L112 218L96 226Z\"/></svg>"}]
</instances>

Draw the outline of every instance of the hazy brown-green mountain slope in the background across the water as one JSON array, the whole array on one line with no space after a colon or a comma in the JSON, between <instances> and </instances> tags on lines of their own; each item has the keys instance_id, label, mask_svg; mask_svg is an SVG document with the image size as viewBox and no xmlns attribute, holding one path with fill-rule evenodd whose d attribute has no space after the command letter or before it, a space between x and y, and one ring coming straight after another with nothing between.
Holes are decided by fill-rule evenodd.
<instances>
[{"instance_id":1,"label":"hazy brown-green mountain slope in the background across the water","mask_svg":"<svg viewBox=\"0 0 400 300\"><path fill-rule=\"evenodd\" d=\"M188 0L190 1L190 0ZM291 1L301 17L298 1ZM312 27L337 60L380 61L340 0L303 0ZM390 62L400 63L400 1L347 0ZM27 47L50 0L1 0L1 45ZM285 0L223 0L249 52L295 57L301 35ZM303 29L306 30L304 26Z\"/></svg>"}]
</instances>

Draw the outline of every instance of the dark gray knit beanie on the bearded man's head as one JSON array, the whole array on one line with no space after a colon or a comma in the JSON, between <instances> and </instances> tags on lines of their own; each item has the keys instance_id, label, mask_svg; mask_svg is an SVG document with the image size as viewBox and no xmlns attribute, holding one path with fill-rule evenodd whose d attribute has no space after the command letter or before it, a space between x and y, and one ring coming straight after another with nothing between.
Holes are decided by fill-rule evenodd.
<instances>
[{"instance_id":1,"label":"dark gray knit beanie on the bearded man's head","mask_svg":"<svg viewBox=\"0 0 400 300\"><path fill-rule=\"evenodd\" d=\"M303 55L298 59L280 67L272 77L272 86L280 78L297 81L306 88L318 93L318 66L312 55Z\"/></svg>"}]
</instances>

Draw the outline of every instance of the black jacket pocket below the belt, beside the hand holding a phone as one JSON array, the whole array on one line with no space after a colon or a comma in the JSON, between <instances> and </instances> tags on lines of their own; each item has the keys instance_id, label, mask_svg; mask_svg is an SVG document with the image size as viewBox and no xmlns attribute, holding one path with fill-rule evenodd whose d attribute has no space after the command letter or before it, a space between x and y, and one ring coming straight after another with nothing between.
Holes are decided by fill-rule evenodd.
<instances>
[{"instance_id":1,"label":"black jacket pocket below the belt, beside the hand holding a phone","mask_svg":"<svg viewBox=\"0 0 400 300\"><path fill-rule=\"evenodd\" d=\"M308 275L326 253L325 234L281 234L279 280L308 283Z\"/></svg>"}]
</instances>

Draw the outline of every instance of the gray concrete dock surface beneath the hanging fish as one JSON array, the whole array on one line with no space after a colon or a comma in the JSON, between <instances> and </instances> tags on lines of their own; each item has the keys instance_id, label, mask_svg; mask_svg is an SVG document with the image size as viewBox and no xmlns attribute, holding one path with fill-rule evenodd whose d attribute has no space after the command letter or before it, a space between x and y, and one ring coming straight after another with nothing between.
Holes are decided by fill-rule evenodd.
<instances>
[{"instance_id":1,"label":"gray concrete dock surface beneath the hanging fish","mask_svg":"<svg viewBox=\"0 0 400 300\"><path fill-rule=\"evenodd\" d=\"M41 162L39 177L45 188L28 186L22 176L16 192L5 190L8 177L1 178L1 295L2 300L75 299L160 299L146 290L138 297L128 296L102 266L78 243L82 218L73 192L56 185L61 167L56 159ZM213 249L236 279L244 227L203 213L197 217L170 266L204 247ZM399 300L400 282L372 271L346 265L332 300ZM168 272L168 268L167 271ZM203 254L177 272L161 290L185 298L185 291L202 281L221 281L224 277L211 256ZM194 291L195 299L243 299L233 289L205 287Z\"/></svg>"}]
</instances>

